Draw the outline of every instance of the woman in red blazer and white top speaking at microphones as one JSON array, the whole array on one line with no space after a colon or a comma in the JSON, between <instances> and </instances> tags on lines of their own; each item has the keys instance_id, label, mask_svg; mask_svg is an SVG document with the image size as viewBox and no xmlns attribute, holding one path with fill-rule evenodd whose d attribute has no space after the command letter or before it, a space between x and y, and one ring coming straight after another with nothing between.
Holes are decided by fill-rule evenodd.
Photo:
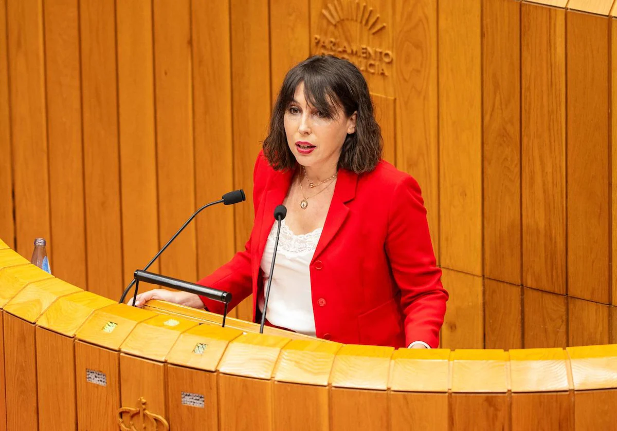
<instances>
[{"instance_id":1,"label":"woman in red blazer and white top speaking at microphones","mask_svg":"<svg viewBox=\"0 0 617 431\"><path fill-rule=\"evenodd\" d=\"M310 57L284 79L254 170L246 250L199 281L253 294L254 320L273 256L273 211L287 216L271 283L270 324L346 344L437 347L447 292L418 183L381 160L366 81L352 63ZM222 304L163 289L163 299L222 313Z\"/></svg>"}]
</instances>

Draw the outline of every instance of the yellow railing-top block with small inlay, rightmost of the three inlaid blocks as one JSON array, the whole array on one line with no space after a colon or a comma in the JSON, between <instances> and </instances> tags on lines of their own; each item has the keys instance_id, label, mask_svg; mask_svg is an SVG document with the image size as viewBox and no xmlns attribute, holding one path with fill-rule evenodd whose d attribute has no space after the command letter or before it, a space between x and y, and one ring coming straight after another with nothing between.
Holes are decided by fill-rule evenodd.
<instances>
[{"instance_id":1,"label":"yellow railing-top block with small inlay, rightmost of the three inlaid blocks","mask_svg":"<svg viewBox=\"0 0 617 431\"><path fill-rule=\"evenodd\" d=\"M167 355L170 364L217 371L229 342L242 335L239 329L202 324L180 334Z\"/></svg>"}]
</instances>

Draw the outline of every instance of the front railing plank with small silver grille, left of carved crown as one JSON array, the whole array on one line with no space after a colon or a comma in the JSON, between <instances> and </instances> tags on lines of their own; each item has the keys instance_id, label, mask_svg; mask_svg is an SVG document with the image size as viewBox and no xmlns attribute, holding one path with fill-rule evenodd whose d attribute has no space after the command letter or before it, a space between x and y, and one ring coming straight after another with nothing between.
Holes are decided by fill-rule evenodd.
<instances>
[{"instance_id":1,"label":"front railing plank with small silver grille, left of carved crown","mask_svg":"<svg viewBox=\"0 0 617 431\"><path fill-rule=\"evenodd\" d=\"M106 386L86 381L86 369L104 373ZM118 353L106 348L75 342L78 429L109 431L118 429L120 408L120 365Z\"/></svg>"}]
</instances>

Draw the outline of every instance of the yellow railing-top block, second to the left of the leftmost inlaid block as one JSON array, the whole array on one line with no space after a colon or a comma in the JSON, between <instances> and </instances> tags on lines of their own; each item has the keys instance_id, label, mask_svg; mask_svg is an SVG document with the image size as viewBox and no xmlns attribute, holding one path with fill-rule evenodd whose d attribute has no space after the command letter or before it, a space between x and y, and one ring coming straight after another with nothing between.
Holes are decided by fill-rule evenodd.
<instances>
[{"instance_id":1,"label":"yellow railing-top block, second to the left of the leftmost inlaid block","mask_svg":"<svg viewBox=\"0 0 617 431\"><path fill-rule=\"evenodd\" d=\"M23 288L4 306L4 311L35 323L60 296L81 291L77 286L58 278L35 281Z\"/></svg>"}]
</instances>

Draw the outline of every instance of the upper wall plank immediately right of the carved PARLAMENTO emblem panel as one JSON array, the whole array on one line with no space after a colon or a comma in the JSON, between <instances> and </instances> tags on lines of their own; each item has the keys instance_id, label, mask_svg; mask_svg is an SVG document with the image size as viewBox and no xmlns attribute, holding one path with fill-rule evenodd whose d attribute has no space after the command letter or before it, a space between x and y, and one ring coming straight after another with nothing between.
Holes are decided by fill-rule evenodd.
<instances>
[{"instance_id":1,"label":"upper wall plank immediately right of the carved PARLAMENTO emblem panel","mask_svg":"<svg viewBox=\"0 0 617 431\"><path fill-rule=\"evenodd\" d=\"M437 262L439 145L437 129L437 2L394 2L396 166L420 184Z\"/></svg>"}]
</instances>

